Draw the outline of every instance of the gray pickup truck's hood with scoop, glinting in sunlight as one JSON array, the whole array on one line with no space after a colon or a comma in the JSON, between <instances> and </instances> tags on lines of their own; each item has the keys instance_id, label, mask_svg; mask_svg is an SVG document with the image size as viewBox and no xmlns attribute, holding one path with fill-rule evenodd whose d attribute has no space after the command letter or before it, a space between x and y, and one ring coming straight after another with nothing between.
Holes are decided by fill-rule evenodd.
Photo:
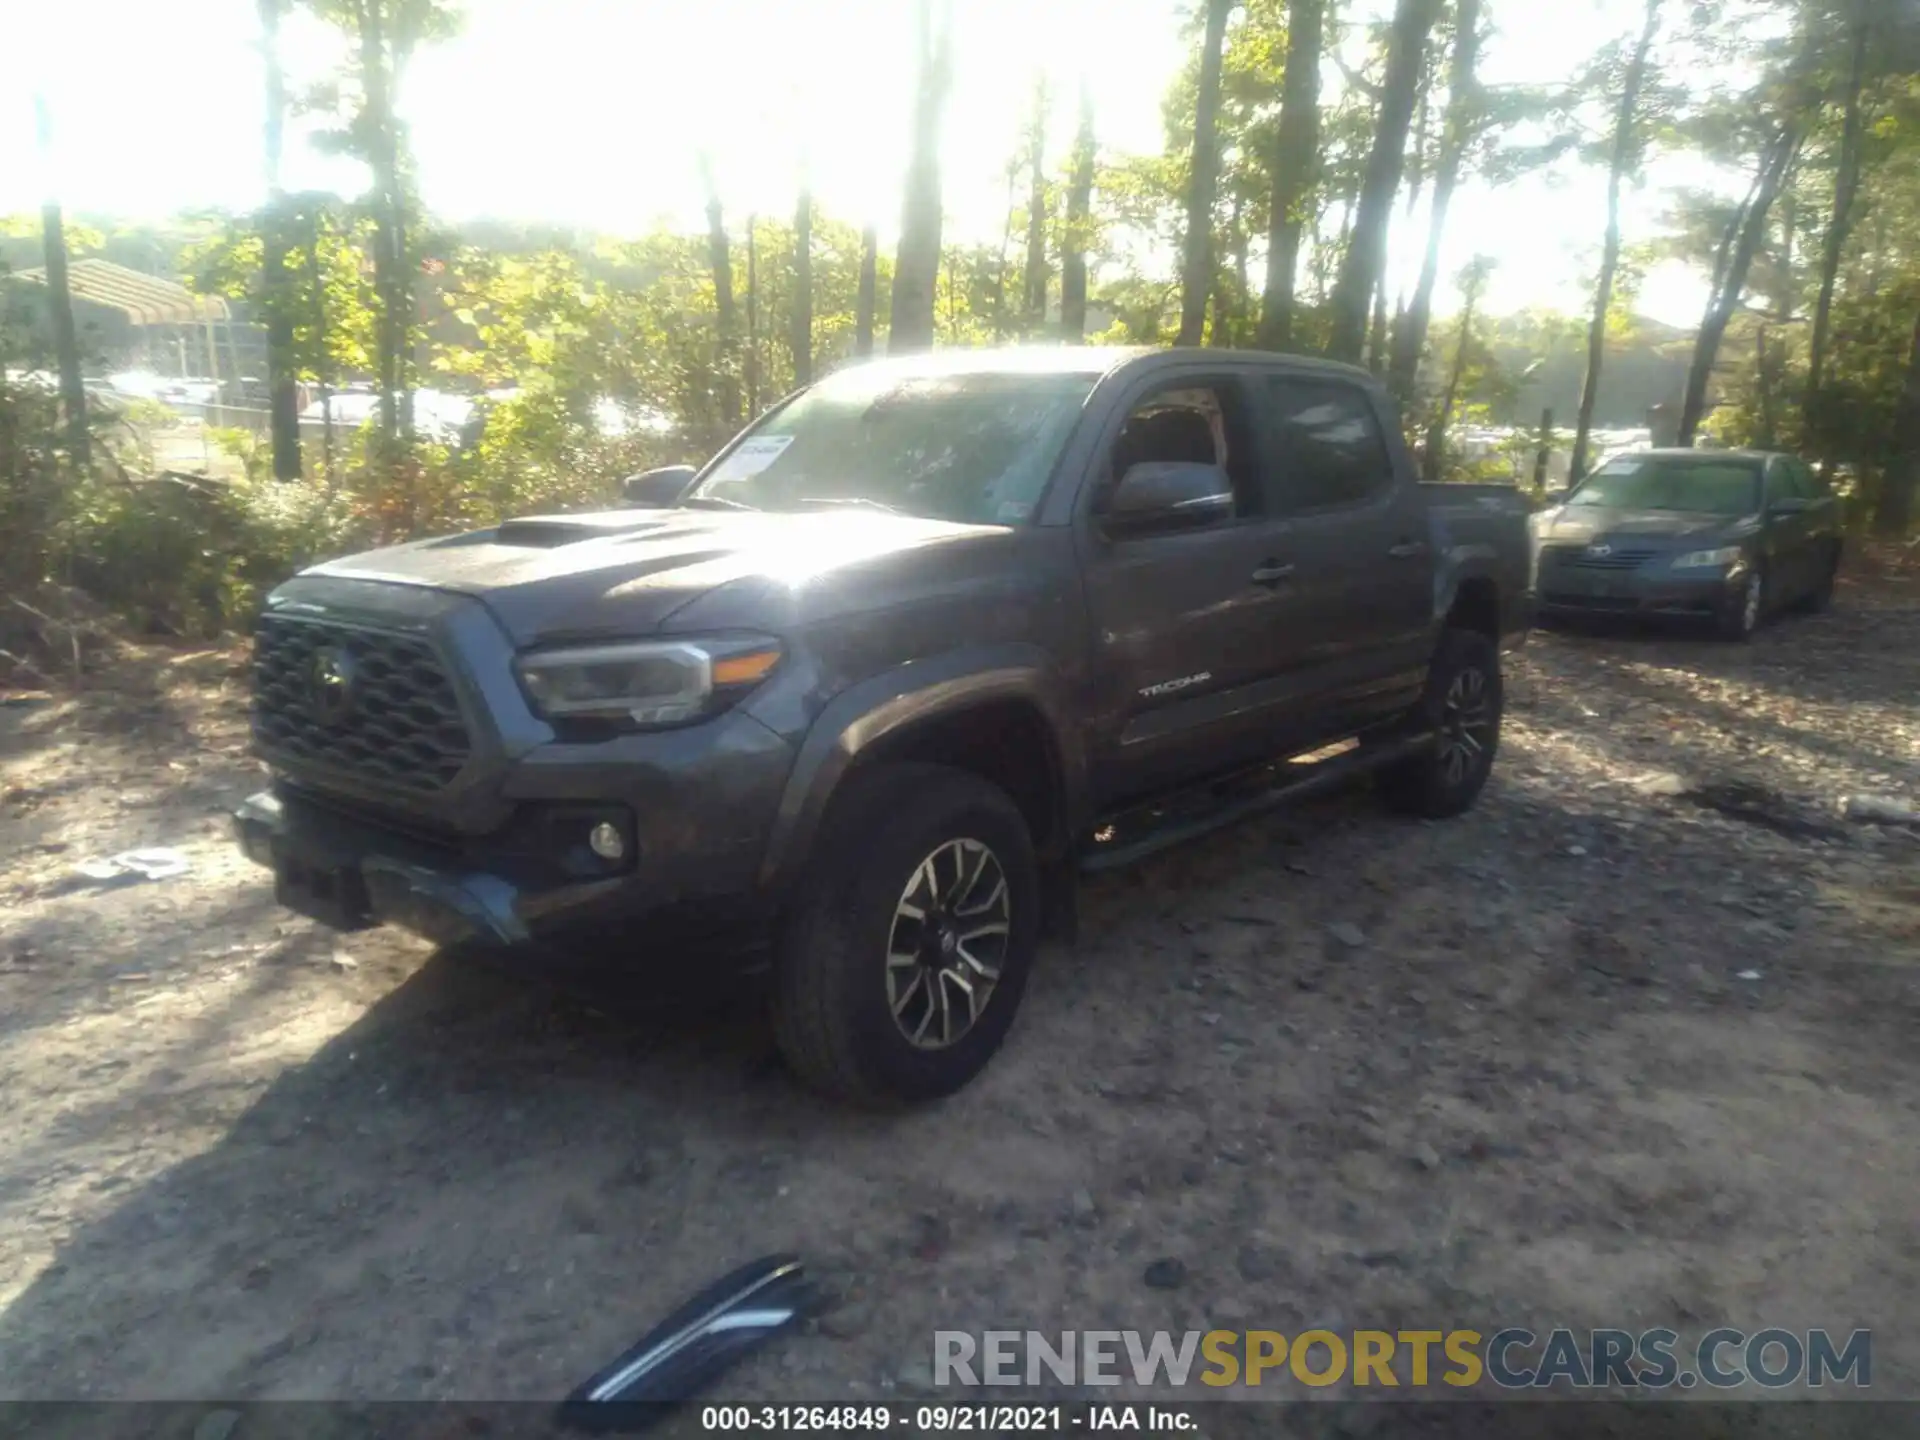
<instances>
[{"instance_id":1,"label":"gray pickup truck's hood with scoop, glinting in sunlight","mask_svg":"<svg viewBox=\"0 0 1920 1440\"><path fill-rule=\"evenodd\" d=\"M1004 526L881 511L818 515L605 511L505 520L493 530L349 555L307 576L474 595L516 645L645 636L714 591L707 624L780 628L806 597L879 582L904 557L1006 543ZM935 568L947 568L945 564Z\"/></svg>"}]
</instances>

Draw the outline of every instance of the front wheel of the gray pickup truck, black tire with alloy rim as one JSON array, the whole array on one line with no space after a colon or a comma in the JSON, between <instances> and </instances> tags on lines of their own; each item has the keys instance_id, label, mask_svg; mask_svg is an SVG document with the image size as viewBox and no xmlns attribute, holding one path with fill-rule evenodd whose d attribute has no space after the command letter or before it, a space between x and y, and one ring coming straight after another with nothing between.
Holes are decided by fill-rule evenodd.
<instances>
[{"instance_id":1,"label":"front wheel of the gray pickup truck, black tire with alloy rim","mask_svg":"<svg viewBox=\"0 0 1920 1440\"><path fill-rule=\"evenodd\" d=\"M1006 1039L1039 929L1033 837L1006 791L935 764L856 772L781 929L781 1054L852 1104L952 1094Z\"/></svg>"}]
</instances>

